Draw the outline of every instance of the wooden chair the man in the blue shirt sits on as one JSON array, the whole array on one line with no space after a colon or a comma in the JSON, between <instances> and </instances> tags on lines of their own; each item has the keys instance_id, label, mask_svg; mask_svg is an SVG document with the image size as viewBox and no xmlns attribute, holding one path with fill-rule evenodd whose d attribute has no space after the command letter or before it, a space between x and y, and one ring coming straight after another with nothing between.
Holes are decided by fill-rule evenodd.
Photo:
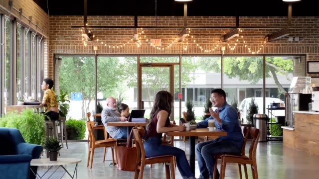
<instances>
[{"instance_id":1,"label":"wooden chair the man in the blue shirt sits on","mask_svg":"<svg viewBox=\"0 0 319 179\"><path fill-rule=\"evenodd\" d=\"M246 165L249 164L251 166L253 179L258 179L258 172L257 172L257 164L256 164L256 149L259 140L259 129L255 127L249 127L249 134L252 136L252 141L249 147L249 157L245 155L236 156L236 155L222 155L221 156L221 166L220 166L220 177L221 179L225 178L225 170L227 163L238 163L238 165L243 165L245 170L245 175L247 179L247 167ZM241 176L241 170L239 170Z\"/></svg>"}]
</instances>

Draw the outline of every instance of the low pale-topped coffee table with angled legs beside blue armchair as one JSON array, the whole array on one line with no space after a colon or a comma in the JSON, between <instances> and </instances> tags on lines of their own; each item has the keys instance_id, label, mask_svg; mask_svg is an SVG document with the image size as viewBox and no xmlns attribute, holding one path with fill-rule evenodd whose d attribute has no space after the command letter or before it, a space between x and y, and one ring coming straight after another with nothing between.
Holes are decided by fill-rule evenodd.
<instances>
[{"instance_id":1,"label":"low pale-topped coffee table with angled legs beside blue armchair","mask_svg":"<svg viewBox=\"0 0 319 179\"><path fill-rule=\"evenodd\" d=\"M30 169L32 173L35 175L36 178L42 179L43 176L53 167L53 166L58 166L58 168L55 169L55 171L51 174L51 176L59 169L59 167L63 168L64 171L72 178L74 179L77 178L77 172L78 172L78 163L80 163L82 160L81 159L74 159L74 158L59 158L57 161L50 161L49 158L46 159L32 159L30 163ZM69 165L69 164L76 164L75 169L73 172L73 176L63 167L63 165ZM33 171L32 166L50 166L50 168L43 174L43 176L39 176L39 174L36 173L36 171ZM49 176L48 178L50 178Z\"/></svg>"}]
</instances>

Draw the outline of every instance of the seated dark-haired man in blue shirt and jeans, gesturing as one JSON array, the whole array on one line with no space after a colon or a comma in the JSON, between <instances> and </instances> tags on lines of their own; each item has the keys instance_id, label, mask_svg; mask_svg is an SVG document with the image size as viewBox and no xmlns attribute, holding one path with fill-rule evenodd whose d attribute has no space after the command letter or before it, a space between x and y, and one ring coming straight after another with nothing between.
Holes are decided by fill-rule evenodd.
<instances>
[{"instance_id":1,"label":"seated dark-haired man in blue shirt and jeans, gesturing","mask_svg":"<svg viewBox=\"0 0 319 179\"><path fill-rule=\"evenodd\" d=\"M213 89L210 101L215 111L209 109L212 114L209 118L215 119L215 126L218 130L227 132L227 136L219 136L215 140L202 142L196 145L195 153L197 156L200 176L198 179L212 179L215 155L220 153L241 153L244 137L238 122L237 111L226 102L226 93L223 89ZM198 128L208 127L208 118L197 124ZM217 170L216 179L219 179Z\"/></svg>"}]
</instances>

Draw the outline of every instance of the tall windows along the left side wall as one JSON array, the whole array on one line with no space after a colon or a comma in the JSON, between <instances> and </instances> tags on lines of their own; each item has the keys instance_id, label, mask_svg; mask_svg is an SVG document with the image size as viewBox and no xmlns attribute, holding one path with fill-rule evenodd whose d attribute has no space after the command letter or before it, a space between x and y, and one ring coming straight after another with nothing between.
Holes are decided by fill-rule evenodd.
<instances>
[{"instance_id":1,"label":"tall windows along the left side wall","mask_svg":"<svg viewBox=\"0 0 319 179\"><path fill-rule=\"evenodd\" d=\"M43 42L39 41L37 33L30 28L4 16L1 18L1 66L2 83L0 88L0 112L7 105L14 105L23 95L36 98L39 91L40 77L43 77ZM3 70L3 71L2 71ZM39 95L38 95L39 96ZM40 99L39 97L37 99Z\"/></svg>"}]
</instances>

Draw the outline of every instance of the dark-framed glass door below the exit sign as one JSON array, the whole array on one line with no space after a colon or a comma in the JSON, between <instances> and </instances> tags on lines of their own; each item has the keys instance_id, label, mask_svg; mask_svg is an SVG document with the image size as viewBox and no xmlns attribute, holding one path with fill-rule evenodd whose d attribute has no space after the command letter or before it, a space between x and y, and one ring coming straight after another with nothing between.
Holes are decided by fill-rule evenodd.
<instances>
[{"instance_id":1,"label":"dark-framed glass door below the exit sign","mask_svg":"<svg viewBox=\"0 0 319 179\"><path fill-rule=\"evenodd\" d=\"M166 90L174 95L174 66L173 64L140 63L138 71L138 108L146 109L145 117L149 118L155 96L158 91ZM174 119L172 106L170 119Z\"/></svg>"}]
</instances>

